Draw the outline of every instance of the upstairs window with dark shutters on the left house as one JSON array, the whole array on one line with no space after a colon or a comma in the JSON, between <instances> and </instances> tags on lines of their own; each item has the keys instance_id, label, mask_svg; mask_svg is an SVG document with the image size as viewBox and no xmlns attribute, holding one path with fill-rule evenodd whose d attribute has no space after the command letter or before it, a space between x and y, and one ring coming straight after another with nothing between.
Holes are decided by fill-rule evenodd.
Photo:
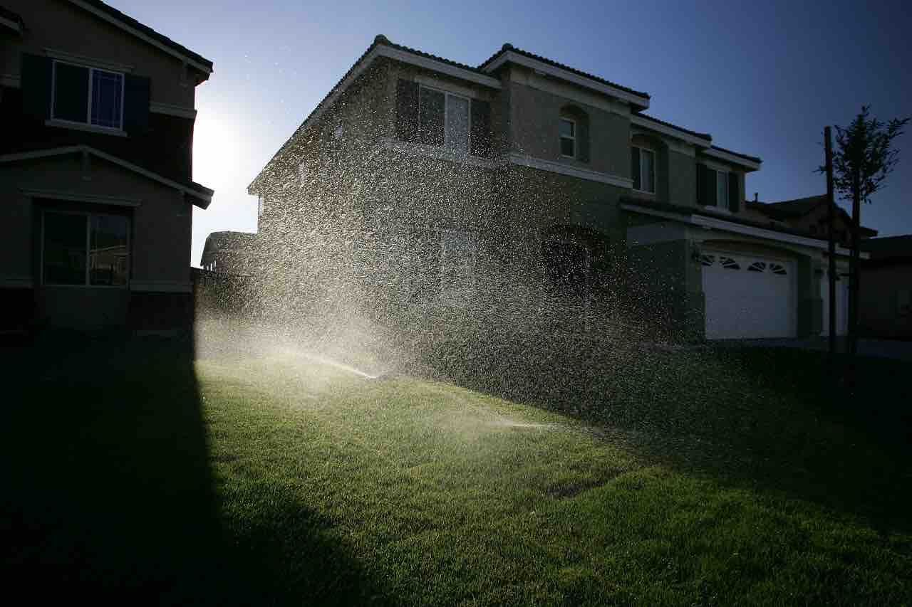
<instances>
[{"instance_id":1,"label":"upstairs window with dark shutters on the left house","mask_svg":"<svg viewBox=\"0 0 912 607\"><path fill-rule=\"evenodd\" d=\"M120 129L123 81L118 72L55 61L51 118Z\"/></svg>"}]
</instances>

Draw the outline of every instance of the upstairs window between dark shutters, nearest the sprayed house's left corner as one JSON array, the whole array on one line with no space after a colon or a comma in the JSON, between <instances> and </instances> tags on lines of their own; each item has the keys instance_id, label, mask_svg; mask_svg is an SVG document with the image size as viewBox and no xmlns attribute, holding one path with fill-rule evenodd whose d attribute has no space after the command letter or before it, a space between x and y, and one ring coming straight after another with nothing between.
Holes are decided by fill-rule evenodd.
<instances>
[{"instance_id":1,"label":"upstairs window between dark shutters, nearest the sprayed house's left corner","mask_svg":"<svg viewBox=\"0 0 912 607\"><path fill-rule=\"evenodd\" d=\"M421 87L418 115L421 143L469 153L472 118L468 98Z\"/></svg>"}]
</instances>

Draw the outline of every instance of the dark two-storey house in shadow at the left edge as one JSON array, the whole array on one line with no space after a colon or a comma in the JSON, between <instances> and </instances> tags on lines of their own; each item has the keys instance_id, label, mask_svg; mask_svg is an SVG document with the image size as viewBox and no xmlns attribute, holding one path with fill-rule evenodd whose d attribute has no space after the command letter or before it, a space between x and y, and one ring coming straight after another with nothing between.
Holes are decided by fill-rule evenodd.
<instances>
[{"instance_id":1,"label":"dark two-storey house in shadow at the left edge","mask_svg":"<svg viewBox=\"0 0 912 607\"><path fill-rule=\"evenodd\" d=\"M4 322L186 324L212 62L98 0L0 2Z\"/></svg>"}]
</instances>

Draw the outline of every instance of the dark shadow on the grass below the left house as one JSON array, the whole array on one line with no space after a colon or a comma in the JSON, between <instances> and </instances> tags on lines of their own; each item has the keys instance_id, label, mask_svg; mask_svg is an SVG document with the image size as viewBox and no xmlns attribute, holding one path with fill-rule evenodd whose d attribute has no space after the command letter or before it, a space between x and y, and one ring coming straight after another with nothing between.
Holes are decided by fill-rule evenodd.
<instances>
[{"instance_id":1,"label":"dark shadow on the grass below the left house","mask_svg":"<svg viewBox=\"0 0 912 607\"><path fill-rule=\"evenodd\" d=\"M226 528L188 339L0 348L6 596L92 604L389 602L330 523L271 496Z\"/></svg>"}]
</instances>

